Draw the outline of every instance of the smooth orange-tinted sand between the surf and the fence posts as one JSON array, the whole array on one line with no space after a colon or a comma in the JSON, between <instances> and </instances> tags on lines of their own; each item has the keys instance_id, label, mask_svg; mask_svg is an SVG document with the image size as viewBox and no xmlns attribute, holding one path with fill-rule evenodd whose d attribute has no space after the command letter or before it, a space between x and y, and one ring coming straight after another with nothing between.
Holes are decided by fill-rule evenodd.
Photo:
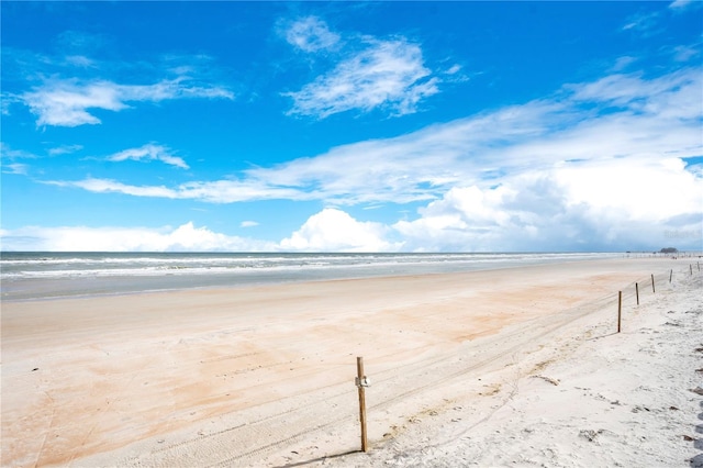
<instances>
[{"instance_id":1,"label":"smooth orange-tinted sand between the surf and the fence posts","mask_svg":"<svg viewBox=\"0 0 703 468\"><path fill-rule=\"evenodd\" d=\"M226 453L231 464L260 465L281 461L277 454L301 439L352 427L316 439L310 456L348 452L357 355L381 388L386 380L410 392L369 392L370 408L387 413L370 432L378 444L417 395L451 393L451 376L471 375L462 359L495 353L484 370L510 360L506 346L561 333L581 319L565 310L581 313L655 266L661 278L681 263L585 260L7 303L3 466L188 466L183 447L199 457L190 464ZM563 324L547 333L555 317ZM445 381L416 389L431 370Z\"/></svg>"}]
</instances>

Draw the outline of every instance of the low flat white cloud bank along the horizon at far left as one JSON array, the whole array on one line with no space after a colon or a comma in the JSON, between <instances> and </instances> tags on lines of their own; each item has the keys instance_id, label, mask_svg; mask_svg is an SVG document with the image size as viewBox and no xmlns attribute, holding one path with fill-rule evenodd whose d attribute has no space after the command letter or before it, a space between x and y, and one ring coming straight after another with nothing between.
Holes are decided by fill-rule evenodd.
<instances>
[{"instance_id":1,"label":"low flat white cloud bank along the horizon at far left","mask_svg":"<svg viewBox=\"0 0 703 468\"><path fill-rule=\"evenodd\" d=\"M0 230L4 250L53 252L247 252L274 250L272 243L228 236L196 227L24 227Z\"/></svg>"}]
</instances>

